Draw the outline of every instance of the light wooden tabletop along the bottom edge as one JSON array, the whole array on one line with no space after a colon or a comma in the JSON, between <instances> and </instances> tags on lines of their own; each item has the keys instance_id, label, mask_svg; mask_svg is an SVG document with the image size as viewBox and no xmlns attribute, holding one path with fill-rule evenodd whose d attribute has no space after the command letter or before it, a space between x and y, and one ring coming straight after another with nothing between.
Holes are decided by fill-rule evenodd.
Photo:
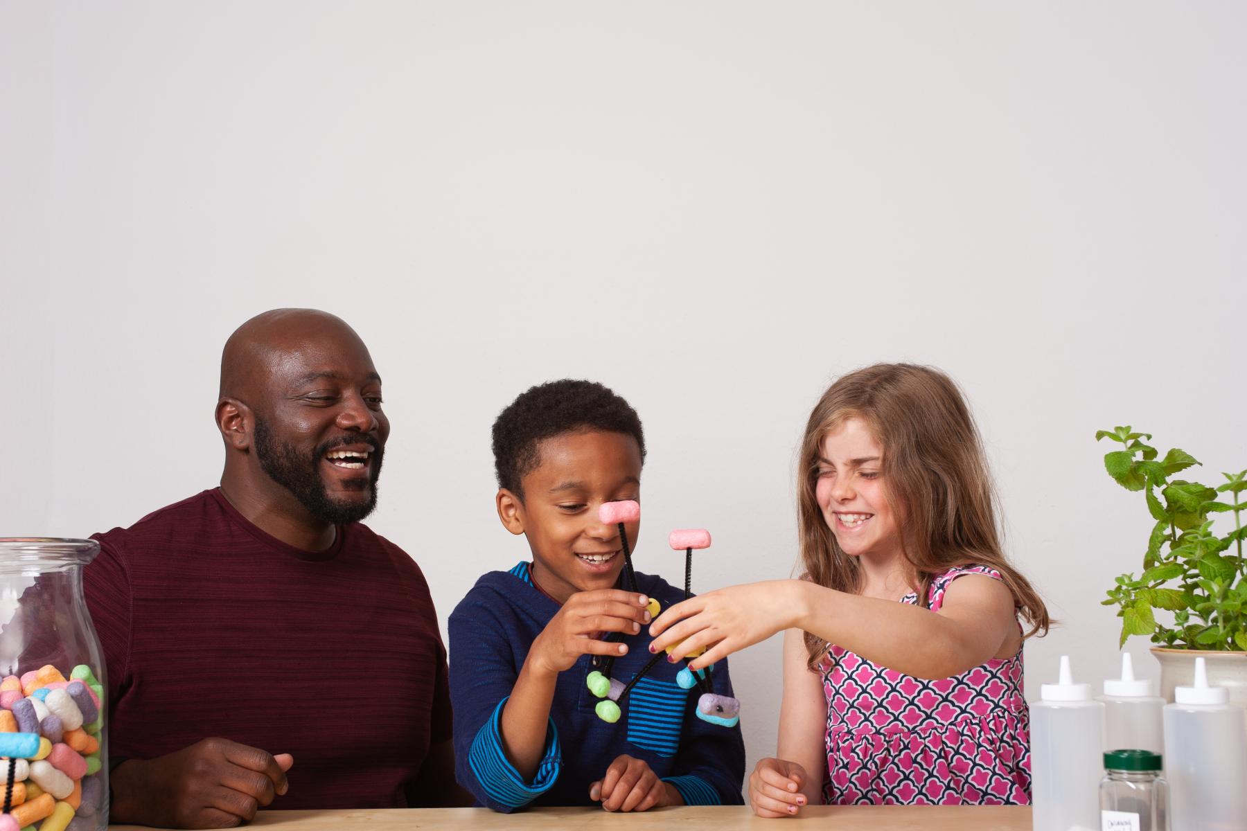
<instances>
[{"instance_id":1,"label":"light wooden tabletop along the bottom edge","mask_svg":"<svg viewBox=\"0 0 1247 831\"><path fill-rule=\"evenodd\" d=\"M470 831L473 829L575 829L577 831L733 831L799 827L862 829L864 831L1031 831L1030 809L1016 806L832 806L807 807L799 817L761 820L748 807L667 807L643 814L609 814L596 807L546 807L519 814L495 814L481 807L407 809L368 811L261 811L253 829L286 831ZM112 831L145 831L113 825Z\"/></svg>"}]
</instances>

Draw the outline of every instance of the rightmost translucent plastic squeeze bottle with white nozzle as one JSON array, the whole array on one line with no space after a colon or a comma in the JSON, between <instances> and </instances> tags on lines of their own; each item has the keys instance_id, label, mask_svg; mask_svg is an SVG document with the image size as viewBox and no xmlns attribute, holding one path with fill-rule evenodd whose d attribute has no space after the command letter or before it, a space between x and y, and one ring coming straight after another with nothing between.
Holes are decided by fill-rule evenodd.
<instances>
[{"instance_id":1,"label":"rightmost translucent plastic squeeze bottle with white nozzle","mask_svg":"<svg viewBox=\"0 0 1247 831\"><path fill-rule=\"evenodd\" d=\"M1203 658L1195 685L1165 705L1165 767L1176 831L1247 829L1247 726L1225 686L1208 686Z\"/></svg>"}]
</instances>

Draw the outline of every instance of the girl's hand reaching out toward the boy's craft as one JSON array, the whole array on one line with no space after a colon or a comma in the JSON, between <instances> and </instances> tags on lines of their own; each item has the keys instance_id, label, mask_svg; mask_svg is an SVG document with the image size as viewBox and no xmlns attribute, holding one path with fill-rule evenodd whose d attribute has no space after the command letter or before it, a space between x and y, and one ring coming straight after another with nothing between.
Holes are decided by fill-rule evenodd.
<instances>
[{"instance_id":1,"label":"girl's hand reaching out toward the boy's craft","mask_svg":"<svg viewBox=\"0 0 1247 831\"><path fill-rule=\"evenodd\" d=\"M676 603L650 625L655 635L650 652L680 644L668 660L675 663L700 647L707 652L688 662L703 669L733 652L752 647L783 629L798 625L803 583L767 581L731 586Z\"/></svg>"}]
</instances>

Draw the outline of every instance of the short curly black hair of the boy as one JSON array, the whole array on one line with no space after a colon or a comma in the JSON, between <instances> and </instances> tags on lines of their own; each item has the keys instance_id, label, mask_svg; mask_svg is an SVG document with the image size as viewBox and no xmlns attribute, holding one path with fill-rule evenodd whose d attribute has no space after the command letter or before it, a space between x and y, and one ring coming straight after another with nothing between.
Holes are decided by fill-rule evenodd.
<instances>
[{"instance_id":1,"label":"short curly black hair of the boy","mask_svg":"<svg viewBox=\"0 0 1247 831\"><path fill-rule=\"evenodd\" d=\"M530 386L494 421L498 486L524 498L521 482L540 463L537 445L564 432L601 430L636 439L645 463L645 434L631 405L596 381L562 379Z\"/></svg>"}]
</instances>

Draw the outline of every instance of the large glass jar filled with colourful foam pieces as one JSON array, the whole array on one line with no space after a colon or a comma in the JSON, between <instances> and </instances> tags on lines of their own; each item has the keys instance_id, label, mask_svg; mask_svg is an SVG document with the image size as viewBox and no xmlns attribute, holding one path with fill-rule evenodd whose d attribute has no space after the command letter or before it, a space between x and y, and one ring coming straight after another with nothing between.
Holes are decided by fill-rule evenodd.
<instances>
[{"instance_id":1,"label":"large glass jar filled with colourful foam pieces","mask_svg":"<svg viewBox=\"0 0 1247 831\"><path fill-rule=\"evenodd\" d=\"M108 827L107 686L82 596L99 552L0 538L0 801L19 829Z\"/></svg>"}]
</instances>

